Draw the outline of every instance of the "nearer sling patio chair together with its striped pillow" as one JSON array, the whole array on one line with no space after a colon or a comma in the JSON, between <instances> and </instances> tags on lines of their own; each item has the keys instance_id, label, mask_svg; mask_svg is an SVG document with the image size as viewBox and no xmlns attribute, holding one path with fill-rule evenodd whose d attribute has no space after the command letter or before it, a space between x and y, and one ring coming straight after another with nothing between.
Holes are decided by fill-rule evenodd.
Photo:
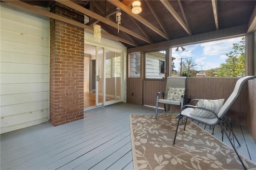
<instances>
[{"instance_id":1,"label":"nearer sling patio chair together with its striped pillow","mask_svg":"<svg viewBox=\"0 0 256 170\"><path fill-rule=\"evenodd\" d=\"M226 134L226 136L228 137L228 140L231 143L234 151L236 152L236 155L238 156L244 169L246 169L246 167L244 166L244 163L242 162L240 156L238 155L238 152L236 151L234 145L232 144L232 141L230 140L223 124L221 123L221 120L223 119L227 122L230 130L232 131L232 134L234 135L234 132L233 132L232 128L230 127L230 124L228 123L225 115L228 112L228 110L230 109L230 107L237 100L238 96L240 95L240 92L242 90L244 82L246 82L247 80L253 79L253 78L256 78L256 76L245 76L245 77L240 78L236 82L234 91L232 92L232 94L229 96L229 98L227 99L227 101L224 104L223 104L224 99L220 99L220 100L193 99L193 100L198 100L196 106L192 106L190 104L184 105L181 108L180 113L178 115L178 117L179 117L178 122L180 121L180 119L182 119L182 117L186 117L186 123L187 123L187 119L189 118L191 120L195 120L195 121L198 121L198 122L204 123L206 125L210 125L210 126L220 124L220 126L222 128L222 133L224 132ZM191 102L193 100L191 100ZM178 127L180 124L178 122L177 122L177 128L176 128L176 133L174 136L173 145L175 144ZM184 131L186 128L186 123L184 125ZM213 131L214 131L214 127L212 128L212 135L213 135ZM236 138L235 135L234 135L234 137ZM241 146L240 143L238 142L237 138L236 138L236 141L237 141L238 145Z\"/></svg>"}]
</instances>

